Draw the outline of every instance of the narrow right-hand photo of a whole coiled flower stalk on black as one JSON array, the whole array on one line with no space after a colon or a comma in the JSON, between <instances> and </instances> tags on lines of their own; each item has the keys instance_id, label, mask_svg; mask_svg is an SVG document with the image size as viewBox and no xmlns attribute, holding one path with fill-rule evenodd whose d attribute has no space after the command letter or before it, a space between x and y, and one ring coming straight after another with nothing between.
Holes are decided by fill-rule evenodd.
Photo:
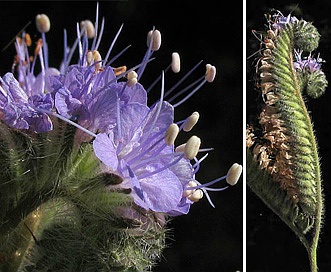
<instances>
[{"instance_id":1,"label":"narrow right-hand photo of a whole coiled flower stalk on black","mask_svg":"<svg viewBox=\"0 0 331 272\"><path fill-rule=\"evenodd\" d=\"M249 272L331 271L330 12L247 1Z\"/></svg>"}]
</instances>

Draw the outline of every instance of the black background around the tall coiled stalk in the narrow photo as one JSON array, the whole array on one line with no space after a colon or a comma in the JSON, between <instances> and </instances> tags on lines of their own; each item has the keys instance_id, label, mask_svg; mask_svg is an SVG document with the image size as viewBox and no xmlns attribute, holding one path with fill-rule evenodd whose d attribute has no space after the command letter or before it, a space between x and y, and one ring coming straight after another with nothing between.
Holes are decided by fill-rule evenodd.
<instances>
[{"instance_id":1,"label":"black background around the tall coiled stalk in the narrow photo","mask_svg":"<svg viewBox=\"0 0 331 272\"><path fill-rule=\"evenodd\" d=\"M252 30L266 30L264 14L271 8L281 11L287 16L291 11L298 19L311 21L322 35L318 52L326 60L322 65L328 81L331 84L331 22L330 1L247 1L247 57L259 50L260 42L252 35ZM317 52L315 56L317 55ZM258 56L258 55L256 55ZM254 87L256 60L247 61L247 120L257 114L258 91ZM308 110L311 111L316 137L321 156L323 188L325 195L324 228L320 236L318 250L319 271L331 271L331 188L330 188L330 133L331 133L331 90L319 99L307 99ZM308 257L292 231L260 201L249 189L247 203L247 271L309 271Z\"/></svg>"}]
</instances>

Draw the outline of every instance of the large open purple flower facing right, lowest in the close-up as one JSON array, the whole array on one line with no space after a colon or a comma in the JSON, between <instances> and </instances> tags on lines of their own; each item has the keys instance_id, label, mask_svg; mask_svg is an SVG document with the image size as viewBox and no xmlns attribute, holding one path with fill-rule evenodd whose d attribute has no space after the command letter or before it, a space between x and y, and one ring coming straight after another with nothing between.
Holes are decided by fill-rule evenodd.
<instances>
[{"instance_id":1,"label":"large open purple flower facing right, lowest in the close-up","mask_svg":"<svg viewBox=\"0 0 331 272\"><path fill-rule=\"evenodd\" d=\"M134 202L146 210L187 213L182 203L193 168L184 153L174 152L164 140L173 123L173 107L159 102L154 107L133 103L120 112L120 127L93 142L97 157L109 171L123 178L120 185L132 189ZM188 204L191 204L190 202Z\"/></svg>"}]
</instances>

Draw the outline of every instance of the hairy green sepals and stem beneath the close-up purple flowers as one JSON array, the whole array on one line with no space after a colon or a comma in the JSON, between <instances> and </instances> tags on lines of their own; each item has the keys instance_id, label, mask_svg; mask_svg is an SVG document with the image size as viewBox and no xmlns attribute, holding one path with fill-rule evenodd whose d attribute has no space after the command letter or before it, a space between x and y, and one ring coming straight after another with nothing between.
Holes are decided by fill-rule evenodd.
<instances>
[{"instance_id":1,"label":"hairy green sepals and stem beneath the close-up purple flowers","mask_svg":"<svg viewBox=\"0 0 331 272\"><path fill-rule=\"evenodd\" d=\"M0 123L0 271L146 271L166 229L100 172L73 127L34 135ZM115 188L115 187L114 187Z\"/></svg>"}]
</instances>

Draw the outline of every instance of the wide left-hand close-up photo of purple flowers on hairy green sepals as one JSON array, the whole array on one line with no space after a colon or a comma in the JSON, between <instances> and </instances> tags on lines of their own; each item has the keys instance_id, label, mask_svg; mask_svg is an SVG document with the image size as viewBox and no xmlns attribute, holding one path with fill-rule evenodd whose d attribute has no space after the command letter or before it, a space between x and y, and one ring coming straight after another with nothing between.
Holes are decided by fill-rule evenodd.
<instances>
[{"instance_id":1,"label":"wide left-hand close-up photo of purple flowers on hairy green sepals","mask_svg":"<svg viewBox=\"0 0 331 272\"><path fill-rule=\"evenodd\" d=\"M243 271L228 5L1 2L0 271Z\"/></svg>"}]
</instances>

